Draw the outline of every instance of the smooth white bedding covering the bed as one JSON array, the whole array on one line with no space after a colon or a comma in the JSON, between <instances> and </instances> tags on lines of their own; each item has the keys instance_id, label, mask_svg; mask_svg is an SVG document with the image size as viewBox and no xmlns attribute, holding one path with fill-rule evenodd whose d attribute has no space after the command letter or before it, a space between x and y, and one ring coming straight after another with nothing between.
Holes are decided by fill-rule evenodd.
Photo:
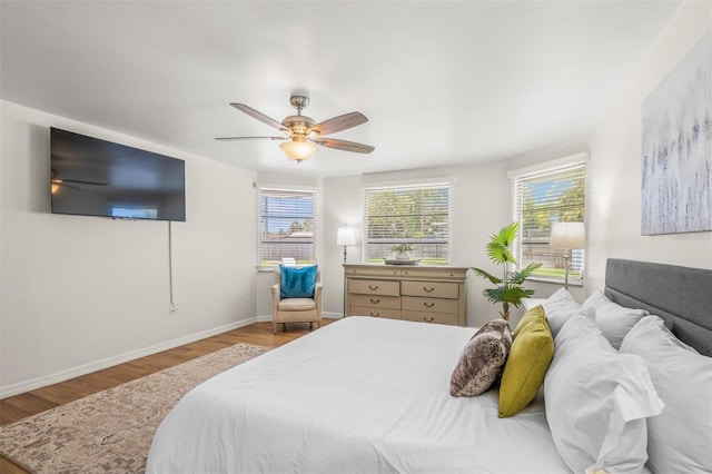
<instances>
[{"instance_id":1,"label":"smooth white bedding covering the bed","mask_svg":"<svg viewBox=\"0 0 712 474\"><path fill-rule=\"evenodd\" d=\"M568 473L544 406L451 397L474 328L350 316L231 368L162 422L147 473Z\"/></svg>"}]
</instances>

